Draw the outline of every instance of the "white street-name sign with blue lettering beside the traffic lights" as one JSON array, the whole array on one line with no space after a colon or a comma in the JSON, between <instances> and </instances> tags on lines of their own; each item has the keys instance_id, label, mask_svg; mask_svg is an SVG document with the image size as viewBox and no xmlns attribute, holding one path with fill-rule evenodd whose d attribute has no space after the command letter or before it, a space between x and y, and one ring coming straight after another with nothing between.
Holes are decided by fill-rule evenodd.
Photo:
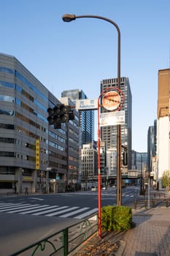
<instances>
[{"instance_id":1,"label":"white street-name sign with blue lettering beside the traffic lights","mask_svg":"<svg viewBox=\"0 0 170 256\"><path fill-rule=\"evenodd\" d=\"M77 110L96 110L98 108L98 99L77 99Z\"/></svg>"}]
</instances>

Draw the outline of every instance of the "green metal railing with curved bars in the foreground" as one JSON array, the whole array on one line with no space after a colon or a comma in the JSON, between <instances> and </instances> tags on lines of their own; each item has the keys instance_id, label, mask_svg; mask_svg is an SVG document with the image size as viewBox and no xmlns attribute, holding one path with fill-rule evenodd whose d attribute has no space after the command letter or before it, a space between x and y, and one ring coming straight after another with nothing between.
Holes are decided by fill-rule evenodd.
<instances>
[{"instance_id":1,"label":"green metal railing with curved bars in the foreground","mask_svg":"<svg viewBox=\"0 0 170 256\"><path fill-rule=\"evenodd\" d=\"M77 224L71 225L47 236L34 244L20 249L9 256L31 255L31 256L66 256L73 252L85 240L93 236L98 230L98 217L93 215L83 219Z\"/></svg>"}]
</instances>

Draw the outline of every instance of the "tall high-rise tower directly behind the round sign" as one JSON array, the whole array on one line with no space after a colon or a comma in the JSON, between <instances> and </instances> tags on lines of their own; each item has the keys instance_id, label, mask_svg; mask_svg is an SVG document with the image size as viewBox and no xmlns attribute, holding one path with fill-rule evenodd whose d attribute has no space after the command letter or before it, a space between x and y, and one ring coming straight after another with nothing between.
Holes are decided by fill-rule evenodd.
<instances>
[{"instance_id":1,"label":"tall high-rise tower directly behind the round sign","mask_svg":"<svg viewBox=\"0 0 170 256\"><path fill-rule=\"evenodd\" d=\"M101 92L112 87L114 90L117 87L117 78L101 80ZM121 78L120 89L125 96L125 102L121 110L125 110L125 124L121 124L121 144L128 148L128 169L131 170L131 88L128 78ZM101 112L108 112L101 108ZM112 170L109 170L110 175L117 173L117 125L101 127L101 140L106 143L108 154L112 151ZM122 148L123 151L123 148ZM111 165L111 164L109 164Z\"/></svg>"}]
</instances>

